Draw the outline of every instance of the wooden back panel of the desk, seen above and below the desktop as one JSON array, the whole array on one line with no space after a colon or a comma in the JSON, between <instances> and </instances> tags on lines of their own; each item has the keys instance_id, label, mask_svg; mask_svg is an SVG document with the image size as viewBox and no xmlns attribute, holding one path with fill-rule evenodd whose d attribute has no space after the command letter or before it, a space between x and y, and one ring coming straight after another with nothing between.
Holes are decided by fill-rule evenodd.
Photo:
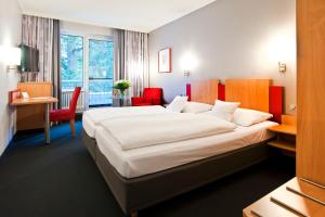
<instances>
[{"instance_id":1,"label":"wooden back panel of the desk, seen above and below the desktop","mask_svg":"<svg viewBox=\"0 0 325 217\"><path fill-rule=\"evenodd\" d=\"M51 82L20 82L17 88L30 98L52 97ZM44 112L44 105L17 106L17 130L43 128Z\"/></svg>"}]
</instances>

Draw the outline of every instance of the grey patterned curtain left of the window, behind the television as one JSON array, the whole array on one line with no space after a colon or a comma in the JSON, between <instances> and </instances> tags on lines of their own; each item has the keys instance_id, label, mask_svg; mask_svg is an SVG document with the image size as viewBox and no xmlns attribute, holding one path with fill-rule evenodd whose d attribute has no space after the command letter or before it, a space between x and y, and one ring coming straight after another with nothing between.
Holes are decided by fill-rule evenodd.
<instances>
[{"instance_id":1,"label":"grey patterned curtain left of the window, behind the television","mask_svg":"<svg viewBox=\"0 0 325 217\"><path fill-rule=\"evenodd\" d=\"M52 82L53 95L60 99L60 21L23 15L22 22L22 42L38 49L39 72L22 73L21 80ZM61 107L60 100L56 107Z\"/></svg>"}]
</instances>

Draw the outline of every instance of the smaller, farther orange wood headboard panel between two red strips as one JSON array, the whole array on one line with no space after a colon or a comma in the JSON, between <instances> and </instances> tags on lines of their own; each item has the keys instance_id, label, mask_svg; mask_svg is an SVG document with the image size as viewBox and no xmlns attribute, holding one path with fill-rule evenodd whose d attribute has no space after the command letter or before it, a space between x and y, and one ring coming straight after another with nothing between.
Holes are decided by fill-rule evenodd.
<instances>
[{"instance_id":1,"label":"smaller, farther orange wood headboard panel between two red strips","mask_svg":"<svg viewBox=\"0 0 325 217\"><path fill-rule=\"evenodd\" d=\"M214 104L218 99L219 79L191 82L191 101Z\"/></svg>"}]
</instances>

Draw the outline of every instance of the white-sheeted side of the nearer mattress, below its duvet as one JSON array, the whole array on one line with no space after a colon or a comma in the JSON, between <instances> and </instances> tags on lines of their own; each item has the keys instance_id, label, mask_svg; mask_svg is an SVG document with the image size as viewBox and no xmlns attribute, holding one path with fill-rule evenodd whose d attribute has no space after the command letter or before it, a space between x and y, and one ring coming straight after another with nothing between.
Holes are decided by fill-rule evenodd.
<instances>
[{"instance_id":1,"label":"white-sheeted side of the nearer mattress, below its duvet","mask_svg":"<svg viewBox=\"0 0 325 217\"><path fill-rule=\"evenodd\" d=\"M269 140L274 133L268 128L275 125L263 122L250 127L238 126L232 132L127 151L101 126L96 127L95 139L99 151L122 177L135 178Z\"/></svg>"}]
</instances>

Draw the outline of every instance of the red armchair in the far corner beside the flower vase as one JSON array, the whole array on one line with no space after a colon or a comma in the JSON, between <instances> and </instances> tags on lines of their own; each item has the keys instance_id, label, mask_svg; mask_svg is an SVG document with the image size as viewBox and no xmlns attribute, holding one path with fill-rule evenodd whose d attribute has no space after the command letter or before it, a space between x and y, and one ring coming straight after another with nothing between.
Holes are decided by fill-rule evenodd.
<instances>
[{"instance_id":1,"label":"red armchair in the far corner beside the flower vase","mask_svg":"<svg viewBox=\"0 0 325 217\"><path fill-rule=\"evenodd\" d=\"M134 97L131 99L132 106L161 105L162 89L161 88L144 88L143 97Z\"/></svg>"}]
</instances>

